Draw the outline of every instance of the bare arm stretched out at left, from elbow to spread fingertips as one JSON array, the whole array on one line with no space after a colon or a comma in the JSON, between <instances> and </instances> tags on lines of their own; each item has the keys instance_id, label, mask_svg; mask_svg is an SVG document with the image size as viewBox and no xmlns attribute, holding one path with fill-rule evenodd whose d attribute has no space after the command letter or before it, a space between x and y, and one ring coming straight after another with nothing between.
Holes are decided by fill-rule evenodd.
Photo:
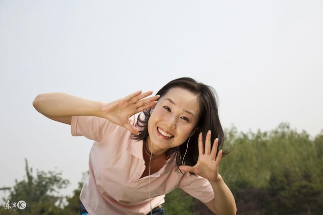
<instances>
[{"instance_id":1,"label":"bare arm stretched out at left, from elbow to spread fingertips","mask_svg":"<svg viewBox=\"0 0 323 215\"><path fill-rule=\"evenodd\" d=\"M44 116L66 124L71 124L70 116L97 116L138 134L138 128L129 122L129 118L156 105L159 96L145 98L150 94L152 91L141 93L140 90L116 101L103 103L66 93L45 93L39 94L32 105Z\"/></svg>"}]
</instances>

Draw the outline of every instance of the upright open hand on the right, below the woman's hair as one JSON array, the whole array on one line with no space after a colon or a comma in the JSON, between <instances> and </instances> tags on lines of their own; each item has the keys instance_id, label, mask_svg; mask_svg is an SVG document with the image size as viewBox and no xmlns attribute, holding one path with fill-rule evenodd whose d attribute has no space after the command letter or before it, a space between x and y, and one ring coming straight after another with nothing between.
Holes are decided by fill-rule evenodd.
<instances>
[{"instance_id":1,"label":"upright open hand on the right, below the woman's hair","mask_svg":"<svg viewBox=\"0 0 323 215\"><path fill-rule=\"evenodd\" d=\"M203 178L208 179L209 181L216 182L220 179L219 174L219 165L222 158L222 150L218 153L217 159L217 150L218 150L218 141L219 139L214 139L212 151L211 149L211 131L208 131L205 137L205 153L203 147L203 136L202 132L198 136L198 160L194 167L191 166L179 166L180 170L185 172L192 172L196 175L199 175Z\"/></svg>"}]
</instances>

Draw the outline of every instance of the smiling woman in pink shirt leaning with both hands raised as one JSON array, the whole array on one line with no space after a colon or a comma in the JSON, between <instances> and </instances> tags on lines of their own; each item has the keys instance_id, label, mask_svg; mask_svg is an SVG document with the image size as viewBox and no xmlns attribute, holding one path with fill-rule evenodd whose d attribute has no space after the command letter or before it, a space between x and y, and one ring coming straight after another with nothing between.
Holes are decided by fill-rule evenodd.
<instances>
[{"instance_id":1,"label":"smiling woman in pink shirt leaning with both hands raised","mask_svg":"<svg viewBox=\"0 0 323 215\"><path fill-rule=\"evenodd\" d=\"M165 194L177 187L214 214L236 214L218 172L227 153L214 89L180 78L151 94L111 103L61 93L34 100L43 115L71 124L73 136L94 140L81 214L165 214Z\"/></svg>"}]
</instances>

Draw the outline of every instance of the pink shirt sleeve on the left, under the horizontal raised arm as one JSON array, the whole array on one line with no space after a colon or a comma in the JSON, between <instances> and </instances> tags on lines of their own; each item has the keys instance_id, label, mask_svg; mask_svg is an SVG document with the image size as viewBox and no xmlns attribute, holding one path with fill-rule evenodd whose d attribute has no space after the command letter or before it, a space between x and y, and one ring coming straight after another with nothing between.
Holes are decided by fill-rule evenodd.
<instances>
[{"instance_id":1,"label":"pink shirt sleeve on the left, under the horizontal raised arm","mask_svg":"<svg viewBox=\"0 0 323 215\"><path fill-rule=\"evenodd\" d=\"M107 132L111 131L114 123L98 116L72 116L72 136L85 136L101 142Z\"/></svg>"}]
</instances>

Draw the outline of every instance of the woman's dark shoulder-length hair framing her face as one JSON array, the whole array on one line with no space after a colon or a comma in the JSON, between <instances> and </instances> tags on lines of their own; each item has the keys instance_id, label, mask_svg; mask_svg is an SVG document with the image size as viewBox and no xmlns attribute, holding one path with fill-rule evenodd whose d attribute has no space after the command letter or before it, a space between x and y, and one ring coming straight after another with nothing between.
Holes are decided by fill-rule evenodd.
<instances>
[{"instance_id":1,"label":"woman's dark shoulder-length hair framing her face","mask_svg":"<svg viewBox=\"0 0 323 215\"><path fill-rule=\"evenodd\" d=\"M208 130L211 130L211 149L213 146L213 141L217 137L219 138L217 155L223 147L224 132L218 115L218 101L217 101L218 95L214 90L214 88L208 85L204 85L202 83L197 83L194 79L183 77L183 78L175 79L169 82L168 84L166 84L163 88L161 88L156 93L156 95L160 96L158 100L161 97L163 97L166 93L168 93L170 89L176 88L176 87L188 90L191 93L196 94L197 97L199 98L200 113L199 113L196 126L193 129L193 132L194 130L195 132L191 134L189 146L183 163L183 165L194 166L198 160L198 135L200 132L203 133L204 147L205 147L205 137ZM140 118L141 113L138 116L137 125L140 127L143 127L144 129L140 130L138 135L136 134L131 135L132 139L143 140L143 145L146 149L147 149L146 140L148 137L148 120L150 118L150 110L151 108L143 111L143 114L144 114L143 120ZM141 125L139 123L141 123ZM186 151L188 139L189 138L187 138L185 142L180 146L168 149L165 152L165 156L167 159L170 158L173 154L176 155L176 153L178 152L176 156L177 168L182 165L181 162L183 160L183 157ZM223 156L227 154L229 154L227 150L222 152ZM174 160L174 158L175 156L173 157L172 160ZM190 175L192 174L195 175L194 173L190 172Z\"/></svg>"}]
</instances>

